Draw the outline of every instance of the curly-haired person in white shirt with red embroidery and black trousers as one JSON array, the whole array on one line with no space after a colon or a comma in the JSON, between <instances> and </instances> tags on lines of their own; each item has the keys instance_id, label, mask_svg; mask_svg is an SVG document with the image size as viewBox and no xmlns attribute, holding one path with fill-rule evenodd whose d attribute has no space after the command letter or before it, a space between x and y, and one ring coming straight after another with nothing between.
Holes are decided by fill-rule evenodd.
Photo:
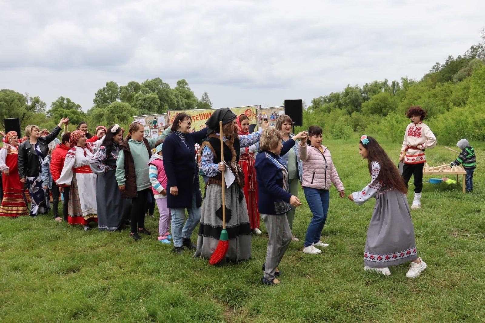
<instances>
[{"instance_id":1,"label":"curly-haired person in white shirt with red embroidery and black trousers","mask_svg":"<svg viewBox=\"0 0 485 323\"><path fill-rule=\"evenodd\" d=\"M427 111L420 106L410 107L406 116L411 119L404 132L403 146L399 161L404 161L403 179L407 186L414 176L414 200L411 209L421 208L421 190L423 187L423 165L426 162L424 149L436 146L436 137L429 127L422 123Z\"/></svg>"}]
</instances>

